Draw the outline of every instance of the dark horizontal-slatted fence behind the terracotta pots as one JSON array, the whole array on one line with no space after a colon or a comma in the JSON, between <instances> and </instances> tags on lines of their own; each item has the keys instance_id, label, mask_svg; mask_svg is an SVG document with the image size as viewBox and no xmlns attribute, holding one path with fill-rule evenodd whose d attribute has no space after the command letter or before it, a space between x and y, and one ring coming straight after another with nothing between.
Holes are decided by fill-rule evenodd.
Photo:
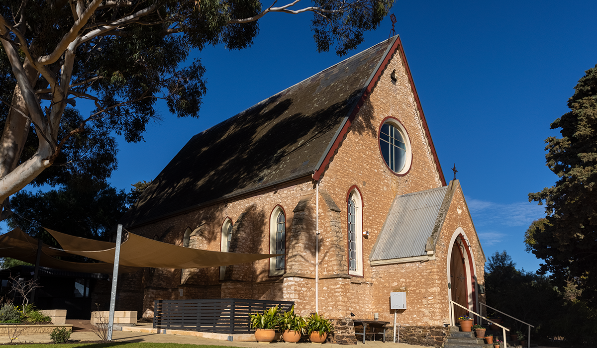
<instances>
[{"instance_id":1,"label":"dark horizontal-slatted fence behind the terracotta pots","mask_svg":"<svg viewBox=\"0 0 597 348\"><path fill-rule=\"evenodd\" d=\"M157 300L153 301L153 328L251 334L249 314L263 312L276 304L282 312L287 312L294 302L242 298Z\"/></svg>"}]
</instances>

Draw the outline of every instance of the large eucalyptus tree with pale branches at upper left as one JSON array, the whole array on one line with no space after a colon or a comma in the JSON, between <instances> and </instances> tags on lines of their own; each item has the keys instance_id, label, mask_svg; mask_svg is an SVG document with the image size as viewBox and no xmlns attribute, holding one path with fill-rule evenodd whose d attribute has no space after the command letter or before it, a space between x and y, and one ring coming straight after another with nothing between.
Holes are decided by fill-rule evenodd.
<instances>
[{"instance_id":1,"label":"large eucalyptus tree with pale branches at upper left","mask_svg":"<svg viewBox=\"0 0 597 348\"><path fill-rule=\"evenodd\" d=\"M290 1L290 0L289 0ZM140 141L156 117L197 117L205 67L191 50L250 46L272 12L310 13L319 51L343 55L375 29L393 0L3 0L0 4L0 202L28 183L115 168L110 132ZM75 110L93 101L89 115ZM60 165L60 166L59 166ZM42 175L48 168L53 173Z\"/></svg>"}]
</instances>

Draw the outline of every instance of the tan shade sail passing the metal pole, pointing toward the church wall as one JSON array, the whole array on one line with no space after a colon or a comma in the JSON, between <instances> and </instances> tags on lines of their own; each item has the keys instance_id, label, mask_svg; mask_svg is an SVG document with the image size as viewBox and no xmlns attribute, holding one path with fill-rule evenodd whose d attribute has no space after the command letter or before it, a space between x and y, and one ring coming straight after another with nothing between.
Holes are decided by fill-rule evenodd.
<instances>
[{"instance_id":1,"label":"tan shade sail passing the metal pole, pointing toward the church wall","mask_svg":"<svg viewBox=\"0 0 597 348\"><path fill-rule=\"evenodd\" d=\"M64 251L104 262L114 262L116 243L99 242L47 230L60 243ZM109 247L109 248L106 248ZM284 254L281 254L284 255ZM127 233L121 244L118 263L122 266L155 268L205 268L229 266L281 256L277 254L241 254L179 247L153 239Z\"/></svg>"}]
</instances>

